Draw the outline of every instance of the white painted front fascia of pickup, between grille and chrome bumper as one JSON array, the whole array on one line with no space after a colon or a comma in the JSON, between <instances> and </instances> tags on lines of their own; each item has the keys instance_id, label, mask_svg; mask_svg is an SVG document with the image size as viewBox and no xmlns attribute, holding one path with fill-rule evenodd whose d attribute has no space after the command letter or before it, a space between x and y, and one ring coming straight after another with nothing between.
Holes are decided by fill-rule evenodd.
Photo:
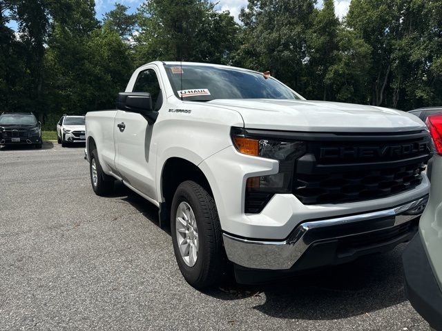
<instances>
[{"instance_id":1,"label":"white painted front fascia of pickup, between grille and chrome bumper","mask_svg":"<svg viewBox=\"0 0 442 331\"><path fill-rule=\"evenodd\" d=\"M200 163L216 201L224 232L238 238L284 241L302 223L387 210L425 197L430 191L430 182L423 174L423 181L416 188L381 199L305 205L294 194L275 194L259 214L245 213L247 179L275 174L278 166L278 161L240 154L233 146Z\"/></svg>"}]
</instances>

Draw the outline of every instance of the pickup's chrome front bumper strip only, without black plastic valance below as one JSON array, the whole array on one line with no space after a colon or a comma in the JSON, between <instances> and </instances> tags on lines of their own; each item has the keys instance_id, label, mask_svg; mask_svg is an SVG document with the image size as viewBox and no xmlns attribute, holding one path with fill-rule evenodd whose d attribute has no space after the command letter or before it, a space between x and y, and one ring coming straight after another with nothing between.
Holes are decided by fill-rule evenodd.
<instances>
[{"instance_id":1,"label":"pickup's chrome front bumper strip only, without black plastic valance below","mask_svg":"<svg viewBox=\"0 0 442 331\"><path fill-rule=\"evenodd\" d=\"M298 225L285 241L259 241L224 233L227 257L246 268L290 269L313 244L358 234L387 230L419 217L428 196L395 208L334 219L307 221Z\"/></svg>"}]
</instances>

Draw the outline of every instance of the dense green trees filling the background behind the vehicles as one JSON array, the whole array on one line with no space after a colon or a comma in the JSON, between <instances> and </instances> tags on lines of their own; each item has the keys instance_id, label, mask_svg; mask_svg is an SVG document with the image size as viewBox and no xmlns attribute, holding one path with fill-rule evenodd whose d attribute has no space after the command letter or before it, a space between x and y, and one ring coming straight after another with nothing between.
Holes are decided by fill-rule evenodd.
<instances>
[{"instance_id":1,"label":"dense green trees filling the background behind the vehicles","mask_svg":"<svg viewBox=\"0 0 442 331\"><path fill-rule=\"evenodd\" d=\"M0 0L1 110L52 128L113 107L157 59L270 70L307 99L441 106L442 0L352 0L341 20L323 2L249 0L238 24L209 0L150 0L134 14L115 3L101 21L93 0Z\"/></svg>"}]
</instances>

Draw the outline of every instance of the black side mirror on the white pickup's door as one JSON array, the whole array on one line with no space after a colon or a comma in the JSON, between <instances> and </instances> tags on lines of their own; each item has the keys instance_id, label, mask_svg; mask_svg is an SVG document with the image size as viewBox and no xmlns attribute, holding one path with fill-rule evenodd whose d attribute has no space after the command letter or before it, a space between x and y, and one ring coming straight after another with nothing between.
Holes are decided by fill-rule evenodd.
<instances>
[{"instance_id":1,"label":"black side mirror on the white pickup's door","mask_svg":"<svg viewBox=\"0 0 442 331\"><path fill-rule=\"evenodd\" d=\"M117 109L141 114L149 125L155 123L158 117L158 112L153 109L151 94L147 92L120 92Z\"/></svg>"}]
</instances>

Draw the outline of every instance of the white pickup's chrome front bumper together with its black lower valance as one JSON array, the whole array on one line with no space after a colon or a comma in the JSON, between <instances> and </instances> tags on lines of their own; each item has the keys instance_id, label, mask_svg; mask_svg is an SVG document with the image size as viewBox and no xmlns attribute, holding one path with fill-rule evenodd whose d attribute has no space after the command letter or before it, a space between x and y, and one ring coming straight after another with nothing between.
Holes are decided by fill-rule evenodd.
<instances>
[{"instance_id":1,"label":"white pickup's chrome front bumper together with its black lower valance","mask_svg":"<svg viewBox=\"0 0 442 331\"><path fill-rule=\"evenodd\" d=\"M259 241L224 233L224 247L230 261L258 270L289 270L307 250L319 258L307 261L305 269L345 263L409 241L417 231L417 219L427 200L425 195L386 210L306 221L284 241Z\"/></svg>"}]
</instances>

